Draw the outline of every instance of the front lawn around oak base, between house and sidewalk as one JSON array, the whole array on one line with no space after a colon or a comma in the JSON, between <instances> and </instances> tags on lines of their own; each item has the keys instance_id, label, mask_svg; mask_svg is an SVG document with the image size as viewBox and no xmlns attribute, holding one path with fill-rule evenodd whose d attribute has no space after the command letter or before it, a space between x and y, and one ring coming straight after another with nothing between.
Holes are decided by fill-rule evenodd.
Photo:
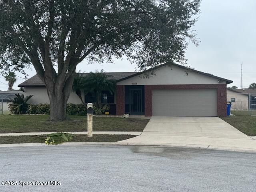
<instances>
[{"instance_id":1,"label":"front lawn around oak base, between house and sidewalk","mask_svg":"<svg viewBox=\"0 0 256 192\"><path fill-rule=\"evenodd\" d=\"M48 115L1 115L0 133L87 131L86 116L48 122ZM143 131L149 119L93 117L93 131Z\"/></svg>"}]
</instances>

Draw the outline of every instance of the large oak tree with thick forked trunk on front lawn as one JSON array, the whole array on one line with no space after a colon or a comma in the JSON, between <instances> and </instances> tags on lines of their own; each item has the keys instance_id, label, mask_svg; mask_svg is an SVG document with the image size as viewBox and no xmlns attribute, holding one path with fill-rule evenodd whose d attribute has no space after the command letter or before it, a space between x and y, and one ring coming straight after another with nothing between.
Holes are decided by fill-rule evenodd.
<instances>
[{"instance_id":1,"label":"large oak tree with thick forked trunk on front lawn","mask_svg":"<svg viewBox=\"0 0 256 192\"><path fill-rule=\"evenodd\" d=\"M33 65L66 119L76 66L126 56L139 70L184 63L200 0L0 0L0 70Z\"/></svg>"}]
</instances>

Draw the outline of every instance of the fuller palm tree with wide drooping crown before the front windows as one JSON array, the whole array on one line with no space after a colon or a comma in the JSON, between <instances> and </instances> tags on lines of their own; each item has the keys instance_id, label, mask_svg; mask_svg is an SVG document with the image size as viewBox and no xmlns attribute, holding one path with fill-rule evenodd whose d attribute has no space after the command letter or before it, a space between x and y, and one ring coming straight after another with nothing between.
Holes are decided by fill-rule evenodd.
<instances>
[{"instance_id":1,"label":"fuller palm tree with wide drooping crown before the front windows","mask_svg":"<svg viewBox=\"0 0 256 192\"><path fill-rule=\"evenodd\" d=\"M112 76L107 75L104 70L96 70L95 73L90 72L85 77L84 90L87 93L94 92L96 95L96 107L99 108L102 91L114 92L116 88L116 80Z\"/></svg>"}]
</instances>

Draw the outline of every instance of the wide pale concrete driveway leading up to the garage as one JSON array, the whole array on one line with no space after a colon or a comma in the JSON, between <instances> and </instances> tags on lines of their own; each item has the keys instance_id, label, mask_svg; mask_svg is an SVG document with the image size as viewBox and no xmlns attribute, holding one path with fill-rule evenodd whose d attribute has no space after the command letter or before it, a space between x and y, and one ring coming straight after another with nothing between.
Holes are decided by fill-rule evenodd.
<instances>
[{"instance_id":1,"label":"wide pale concrete driveway leading up to the garage","mask_svg":"<svg viewBox=\"0 0 256 192\"><path fill-rule=\"evenodd\" d=\"M152 117L141 135L120 142L256 152L256 140L218 117Z\"/></svg>"}]
</instances>

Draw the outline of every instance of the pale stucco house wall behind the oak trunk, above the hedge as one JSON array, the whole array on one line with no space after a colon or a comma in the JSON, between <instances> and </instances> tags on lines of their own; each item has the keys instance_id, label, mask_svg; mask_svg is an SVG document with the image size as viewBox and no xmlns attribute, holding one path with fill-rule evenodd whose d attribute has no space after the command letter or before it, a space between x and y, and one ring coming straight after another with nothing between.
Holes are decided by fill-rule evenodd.
<instances>
[{"instance_id":1,"label":"pale stucco house wall behind the oak trunk, above the hedge","mask_svg":"<svg viewBox=\"0 0 256 192\"><path fill-rule=\"evenodd\" d=\"M45 87L24 87L24 96L29 96L29 95L33 95L32 98L28 100L29 104L40 104L40 103L50 104ZM84 98L83 93L82 93L82 98ZM75 92L70 93L68 103L82 104L81 100L78 98Z\"/></svg>"}]
</instances>

